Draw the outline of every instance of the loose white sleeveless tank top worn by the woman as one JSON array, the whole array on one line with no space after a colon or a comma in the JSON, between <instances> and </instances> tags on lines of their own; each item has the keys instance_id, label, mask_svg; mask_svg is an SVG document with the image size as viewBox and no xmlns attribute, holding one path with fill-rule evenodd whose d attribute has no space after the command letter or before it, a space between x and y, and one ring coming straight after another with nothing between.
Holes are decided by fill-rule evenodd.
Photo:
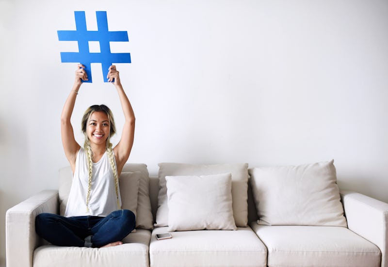
<instances>
[{"instance_id":1,"label":"loose white sleeveless tank top worn by the woman","mask_svg":"<svg viewBox=\"0 0 388 267\"><path fill-rule=\"evenodd\" d=\"M113 171L109 163L108 154L105 152L98 162L93 163L92 188L90 191L89 212L87 212L86 197L89 188L89 172L86 162L85 151L81 148L76 158L76 167L67 200L65 217L85 215L107 216L119 209ZM114 165L116 165L115 158ZM120 189L117 189L121 207Z\"/></svg>"}]
</instances>

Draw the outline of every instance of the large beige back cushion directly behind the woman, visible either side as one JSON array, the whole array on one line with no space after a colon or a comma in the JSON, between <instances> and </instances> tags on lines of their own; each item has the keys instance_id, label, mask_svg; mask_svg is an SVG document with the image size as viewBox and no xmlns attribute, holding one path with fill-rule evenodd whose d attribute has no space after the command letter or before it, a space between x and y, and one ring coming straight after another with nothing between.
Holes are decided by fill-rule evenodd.
<instances>
[{"instance_id":1,"label":"large beige back cushion directly behind the woman, visible either side","mask_svg":"<svg viewBox=\"0 0 388 267\"><path fill-rule=\"evenodd\" d=\"M151 203L149 200L149 177L146 164L127 163L124 165L122 172L140 172L141 178L139 181L139 192L136 209L136 228L152 229L153 217L151 211ZM67 198L70 193L72 181L72 172L70 166L61 168L59 170L59 205L60 214L64 215ZM120 194L123 197L126 194L120 188Z\"/></svg>"}]
</instances>

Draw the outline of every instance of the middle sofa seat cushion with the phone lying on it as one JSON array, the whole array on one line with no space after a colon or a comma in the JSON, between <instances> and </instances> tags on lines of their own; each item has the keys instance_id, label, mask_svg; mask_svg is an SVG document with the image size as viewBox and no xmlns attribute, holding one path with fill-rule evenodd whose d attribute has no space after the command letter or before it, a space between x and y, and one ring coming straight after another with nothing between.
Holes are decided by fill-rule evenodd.
<instances>
[{"instance_id":1,"label":"middle sofa seat cushion with the phone lying on it","mask_svg":"<svg viewBox=\"0 0 388 267\"><path fill-rule=\"evenodd\" d=\"M168 227L152 231L149 245L151 267L265 267L267 250L253 230L238 227L229 230L173 232L173 238L157 240Z\"/></svg>"}]
</instances>

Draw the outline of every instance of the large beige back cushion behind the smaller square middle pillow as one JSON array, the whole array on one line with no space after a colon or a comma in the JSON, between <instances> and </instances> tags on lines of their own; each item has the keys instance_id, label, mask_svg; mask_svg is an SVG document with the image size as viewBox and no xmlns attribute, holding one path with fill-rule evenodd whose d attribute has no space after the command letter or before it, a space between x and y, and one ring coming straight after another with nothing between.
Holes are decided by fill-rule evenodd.
<instances>
[{"instance_id":1,"label":"large beige back cushion behind the smaller square middle pillow","mask_svg":"<svg viewBox=\"0 0 388 267\"><path fill-rule=\"evenodd\" d=\"M159 163L159 195L155 226L168 226L166 176L232 174L233 216L238 227L248 223L248 164L195 165L185 163Z\"/></svg>"}]
</instances>

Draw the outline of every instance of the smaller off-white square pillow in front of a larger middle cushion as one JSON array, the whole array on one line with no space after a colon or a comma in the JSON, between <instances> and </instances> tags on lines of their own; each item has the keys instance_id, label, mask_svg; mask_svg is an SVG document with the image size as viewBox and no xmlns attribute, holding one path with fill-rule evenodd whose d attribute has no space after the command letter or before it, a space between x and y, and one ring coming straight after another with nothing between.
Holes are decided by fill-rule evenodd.
<instances>
[{"instance_id":1,"label":"smaller off-white square pillow in front of a larger middle cushion","mask_svg":"<svg viewBox=\"0 0 388 267\"><path fill-rule=\"evenodd\" d=\"M230 173L166 176L168 231L236 230Z\"/></svg>"}]
</instances>

